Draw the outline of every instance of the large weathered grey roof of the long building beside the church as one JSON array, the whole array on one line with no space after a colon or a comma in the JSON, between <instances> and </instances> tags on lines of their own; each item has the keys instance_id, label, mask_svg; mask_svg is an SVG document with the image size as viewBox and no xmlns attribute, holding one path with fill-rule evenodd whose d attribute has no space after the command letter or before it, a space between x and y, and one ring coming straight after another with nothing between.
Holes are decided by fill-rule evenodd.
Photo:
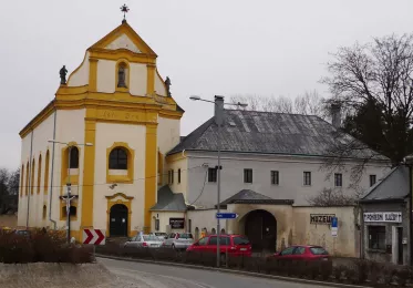
<instances>
[{"instance_id":1,"label":"large weathered grey roof of the long building beside the church","mask_svg":"<svg viewBox=\"0 0 413 288\"><path fill-rule=\"evenodd\" d=\"M217 128L214 117L209 119L168 154L184 150L217 151ZM313 115L224 111L221 151L226 152L326 156L331 147L350 140L354 141L342 133L339 137L330 123ZM364 152L358 151L358 156L365 157Z\"/></svg>"}]
</instances>

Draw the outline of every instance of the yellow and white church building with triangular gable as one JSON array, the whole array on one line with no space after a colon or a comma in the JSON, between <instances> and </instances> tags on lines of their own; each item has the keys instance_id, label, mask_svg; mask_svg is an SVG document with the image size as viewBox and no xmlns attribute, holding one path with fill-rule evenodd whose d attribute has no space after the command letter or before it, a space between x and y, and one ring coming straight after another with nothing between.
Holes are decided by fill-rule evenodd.
<instances>
[{"instance_id":1,"label":"yellow and white church building with triangular gable","mask_svg":"<svg viewBox=\"0 0 413 288\"><path fill-rule=\"evenodd\" d=\"M65 227L60 196L70 182L79 195L71 207L78 240L83 228L110 236L115 205L127 215L122 222L128 236L151 229L149 208L166 183L165 155L179 143L184 113L156 59L126 21L87 49L54 100L20 132L19 226Z\"/></svg>"}]
</instances>

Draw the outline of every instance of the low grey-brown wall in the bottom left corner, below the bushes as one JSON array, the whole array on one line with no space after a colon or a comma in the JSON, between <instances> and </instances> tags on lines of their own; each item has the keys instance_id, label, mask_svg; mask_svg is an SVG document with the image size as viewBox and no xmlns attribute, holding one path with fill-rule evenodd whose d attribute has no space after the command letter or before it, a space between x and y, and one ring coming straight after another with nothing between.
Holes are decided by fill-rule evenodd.
<instances>
[{"instance_id":1,"label":"low grey-brown wall in the bottom left corner, below the bushes","mask_svg":"<svg viewBox=\"0 0 413 288\"><path fill-rule=\"evenodd\" d=\"M0 264L1 288L115 287L110 271L100 264Z\"/></svg>"}]
</instances>

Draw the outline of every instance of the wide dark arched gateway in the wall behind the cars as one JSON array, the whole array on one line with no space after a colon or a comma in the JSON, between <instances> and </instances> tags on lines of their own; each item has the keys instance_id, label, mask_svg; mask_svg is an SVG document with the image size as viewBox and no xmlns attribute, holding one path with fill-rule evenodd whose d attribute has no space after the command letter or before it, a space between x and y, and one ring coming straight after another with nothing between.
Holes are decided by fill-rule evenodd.
<instances>
[{"instance_id":1,"label":"wide dark arched gateway in the wall behind the cars","mask_svg":"<svg viewBox=\"0 0 413 288\"><path fill-rule=\"evenodd\" d=\"M245 234L254 251L275 251L277 247L277 220L267 210L252 210L246 215Z\"/></svg>"}]
</instances>

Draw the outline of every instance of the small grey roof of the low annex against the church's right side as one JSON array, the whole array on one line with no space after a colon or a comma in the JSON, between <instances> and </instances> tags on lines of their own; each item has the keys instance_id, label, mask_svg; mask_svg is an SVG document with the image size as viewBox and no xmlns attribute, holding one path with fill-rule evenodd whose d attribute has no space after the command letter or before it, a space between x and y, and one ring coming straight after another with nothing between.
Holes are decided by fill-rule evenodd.
<instances>
[{"instance_id":1,"label":"small grey roof of the low annex against the church's right side","mask_svg":"<svg viewBox=\"0 0 413 288\"><path fill-rule=\"evenodd\" d=\"M157 191L157 203L151 210L185 212L184 195L182 193L173 193L169 185L164 185Z\"/></svg>"}]
</instances>

